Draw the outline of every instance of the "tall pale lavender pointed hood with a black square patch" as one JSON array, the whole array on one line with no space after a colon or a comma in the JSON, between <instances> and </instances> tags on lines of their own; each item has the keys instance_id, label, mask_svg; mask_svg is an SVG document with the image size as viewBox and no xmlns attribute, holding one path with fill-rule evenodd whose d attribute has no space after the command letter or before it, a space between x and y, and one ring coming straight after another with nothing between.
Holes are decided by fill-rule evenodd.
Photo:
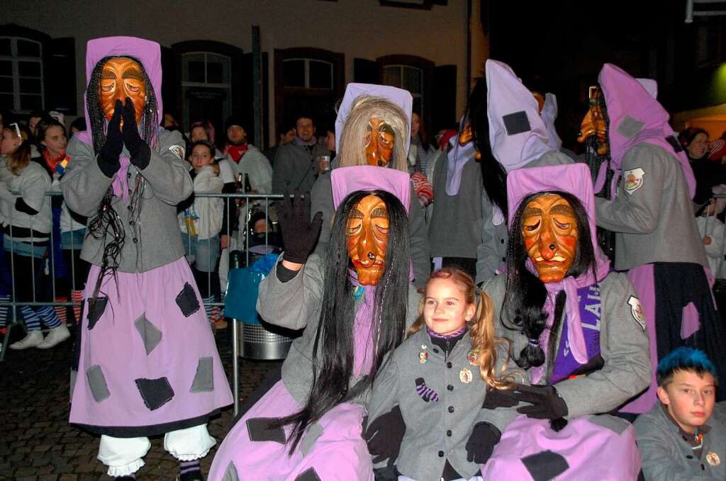
<instances>
[{"instance_id":1,"label":"tall pale lavender pointed hood with a black square patch","mask_svg":"<svg viewBox=\"0 0 726 481\"><path fill-rule=\"evenodd\" d=\"M489 59L485 70L489 142L494 158L508 173L552 147L547 145L547 128L539 117L537 100L509 65Z\"/></svg>"}]
</instances>

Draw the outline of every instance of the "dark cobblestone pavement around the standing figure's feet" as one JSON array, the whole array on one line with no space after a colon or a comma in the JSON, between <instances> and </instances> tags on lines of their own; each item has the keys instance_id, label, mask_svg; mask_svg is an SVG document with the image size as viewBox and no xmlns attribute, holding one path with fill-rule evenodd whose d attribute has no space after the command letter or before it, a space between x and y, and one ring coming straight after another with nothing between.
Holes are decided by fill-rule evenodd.
<instances>
[{"instance_id":1,"label":"dark cobblestone pavement around the standing figure's feet","mask_svg":"<svg viewBox=\"0 0 726 481\"><path fill-rule=\"evenodd\" d=\"M21 329L15 329L21 331ZM229 329L216 334L217 348L232 382ZM15 332L13 332L15 338ZM0 363L0 480L90 481L110 480L97 461L99 437L68 424L71 342L49 350L9 351ZM240 398L278 366L277 362L240 359ZM211 420L209 432L217 446L232 427L232 406ZM216 446L202 460L206 474ZM151 438L146 466L137 472L139 481L174 480L178 464L163 448L163 436Z\"/></svg>"}]
</instances>

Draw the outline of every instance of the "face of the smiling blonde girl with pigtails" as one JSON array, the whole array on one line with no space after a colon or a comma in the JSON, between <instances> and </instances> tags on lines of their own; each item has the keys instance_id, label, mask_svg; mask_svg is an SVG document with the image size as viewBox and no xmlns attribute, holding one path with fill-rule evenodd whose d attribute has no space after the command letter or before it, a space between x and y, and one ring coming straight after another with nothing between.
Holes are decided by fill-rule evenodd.
<instances>
[{"instance_id":1,"label":"face of the smiling blonde girl with pigtails","mask_svg":"<svg viewBox=\"0 0 726 481\"><path fill-rule=\"evenodd\" d=\"M467 304L464 294L450 279L432 279L423 300L423 320L437 334L452 334L473 317L476 306Z\"/></svg>"}]
</instances>

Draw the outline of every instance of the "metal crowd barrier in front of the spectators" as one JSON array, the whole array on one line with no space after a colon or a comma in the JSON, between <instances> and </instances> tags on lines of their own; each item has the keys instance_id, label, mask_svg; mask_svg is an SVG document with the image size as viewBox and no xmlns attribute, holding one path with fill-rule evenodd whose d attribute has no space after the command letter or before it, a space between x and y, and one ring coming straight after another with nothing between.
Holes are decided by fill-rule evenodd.
<instances>
[{"instance_id":1,"label":"metal crowd barrier in front of the spectators","mask_svg":"<svg viewBox=\"0 0 726 481\"><path fill-rule=\"evenodd\" d=\"M47 192L46 196L49 197L48 201L50 201L53 197L62 197L62 194L60 192ZM227 210L227 225L222 226L222 231L219 233L219 237L221 239L221 235L226 233L229 233L228 238L228 247L227 251L230 252L232 250L232 247L237 247L236 250L241 250L243 252L243 258L244 258L244 264L245 266L250 266L250 229L248 229L247 223L251 217L251 215L255 212L264 212L265 218L269 222L269 226L272 229L273 232L279 231L277 227L277 215L274 213L274 209L271 209L272 202L276 200L281 200L282 195L281 194L195 194L195 197L216 197L221 198L225 200L224 202L224 209ZM235 215L238 214L238 215ZM123 215L123 213L119 213L119 215ZM5 256L5 252L13 252L15 249L15 241L13 240L13 229L12 229L12 210L10 212L10 218L6 220L7 224L9 226L9 237L4 237L4 240L7 239L7 242L4 242L4 252L1 253L1 255ZM78 223L77 221L74 221L73 218L70 218L70 229L71 231L80 230L85 226L82 226L81 223ZM235 227L237 229L235 229ZM33 229L32 223L30 226L31 229ZM87 234L87 232L84 232L84 236ZM266 229L265 233L265 242L264 247L265 250L269 249L269 229ZM4 235L4 234L3 234ZM189 247L189 252L185 252L185 255L191 253L191 246L192 242L191 234L187 233L187 246ZM57 286L56 281L58 279L55 278L55 255L53 246L56 242L56 235L54 233L54 229L51 229L50 231L50 239L49 239L49 245L46 249L46 256L44 258L35 258L32 255L30 256L30 266L33 269L33 272L36 271L36 263L46 263L45 266L43 266L45 272L44 274L46 276L49 276L50 278L50 289L52 293L53 300L50 302L42 302L38 300L38 292L36 292L36 282L33 282L32 284L32 300L30 301L23 301L18 302L17 296L16 296L16 283L15 283L15 262L12 258L12 255L7 256L9 258L9 263L6 266L9 269L9 277L10 277L10 300L9 301L1 301L0 300L0 308L7 308L8 315L7 315L7 332L4 335L3 342L1 344L1 350L0 350L0 362L4 360L5 354L8 350L9 345L9 339L10 339L10 333L12 329L15 329L18 326L21 326L23 323L22 321L22 314L20 313L20 307L22 306L30 306L30 307L40 307L40 306L46 306L50 305L53 308L56 307L63 307L68 309L69 307L78 307L81 305L81 303L73 302L73 300L69 299L68 301L59 301L57 300ZM202 239L198 242L207 242L207 247L211 246L211 239ZM31 238L30 240L30 248L33 250L36 242ZM82 247L81 244L76 244L74 242L74 237L70 237L70 250L76 251L80 250ZM221 262L222 257L224 255L223 250L220 248L219 250L219 259L218 264L220 269L222 268ZM228 263L229 264L229 263ZM231 267L231 266L230 266ZM81 290L83 289L83 285L76 285L76 269L78 266L76 266L75 258L73 255L70 255L70 266L68 266L68 276L70 276L70 289L71 290ZM213 279L213 275L216 275L217 273L215 271L211 271L207 273L207 296L209 297L209 294L211 292L215 292L215 289L213 289L213 283L217 281L217 279ZM228 280L229 280L229 270L228 270ZM220 282L219 292L221 295L226 295L227 292L227 286L222 286ZM216 300L213 302L206 301L204 303L204 307L216 307L220 311L224 311L224 305L225 303L222 302L222 299ZM235 319L232 319L232 384L234 386L234 414L236 415L239 411L239 404L240 404L240 366L239 366L239 358L240 358L240 326L238 325L238 321ZM257 334L256 334L257 335ZM277 335L277 334L274 334ZM277 355L282 355L282 352L280 350L273 350L273 353L277 353ZM285 351L286 353L286 351Z\"/></svg>"}]
</instances>

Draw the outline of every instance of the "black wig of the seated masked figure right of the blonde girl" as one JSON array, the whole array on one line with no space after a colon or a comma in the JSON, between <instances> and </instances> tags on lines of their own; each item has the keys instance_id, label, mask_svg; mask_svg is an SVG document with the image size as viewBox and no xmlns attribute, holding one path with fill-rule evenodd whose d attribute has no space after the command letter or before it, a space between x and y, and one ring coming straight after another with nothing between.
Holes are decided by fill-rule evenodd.
<instances>
[{"instance_id":1,"label":"black wig of the seated masked figure right of the blonde girl","mask_svg":"<svg viewBox=\"0 0 726 481\"><path fill-rule=\"evenodd\" d=\"M544 283L539 280L537 274L533 274L526 266L529 258L524 239L522 237L522 223L524 221L524 208L529 202L537 197L547 194L557 194L565 199L575 213L579 239L575 258L566 276L580 276L587 271L597 277L595 272L595 247L590 237L590 221L582 202L573 194L562 191L535 192L524 197L517 212L514 215L512 225L509 228L509 244L507 245L507 288L499 314L502 324L507 329L520 331L529 342L521 350L515 362L522 369L542 366L544 363L544 349L540 345L539 337L547 324L547 313L543 311L544 302L547 300L547 289ZM555 316L550 332L558 332L562 313L565 307L566 294L562 290L555 297ZM513 324L508 324L505 319L513 319ZM547 356L554 357L557 345L556 335L550 335L547 346ZM552 363L550 363L550 367ZM551 373L548 373L549 379Z\"/></svg>"}]
</instances>

